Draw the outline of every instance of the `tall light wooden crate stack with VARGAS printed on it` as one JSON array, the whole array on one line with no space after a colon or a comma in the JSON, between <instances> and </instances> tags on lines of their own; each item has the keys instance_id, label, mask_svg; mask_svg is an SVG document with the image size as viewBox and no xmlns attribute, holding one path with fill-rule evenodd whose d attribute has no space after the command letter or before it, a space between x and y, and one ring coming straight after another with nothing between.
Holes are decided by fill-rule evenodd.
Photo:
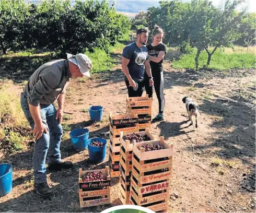
<instances>
[{"instance_id":1,"label":"tall light wooden crate stack with VARGAS printed on it","mask_svg":"<svg viewBox=\"0 0 256 213\"><path fill-rule=\"evenodd\" d=\"M138 146L147 144L160 145L164 149L154 151L138 149ZM164 137L134 144L130 187L131 205L142 206L155 212L167 212L172 154L173 144L168 145Z\"/></svg>"}]
</instances>

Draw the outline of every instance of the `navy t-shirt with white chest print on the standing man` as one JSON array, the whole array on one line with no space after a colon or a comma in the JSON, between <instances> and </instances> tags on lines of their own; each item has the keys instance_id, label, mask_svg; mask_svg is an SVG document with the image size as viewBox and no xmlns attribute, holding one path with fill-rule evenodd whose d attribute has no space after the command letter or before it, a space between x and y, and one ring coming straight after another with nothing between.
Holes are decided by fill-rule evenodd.
<instances>
[{"instance_id":1,"label":"navy t-shirt with white chest print on the standing man","mask_svg":"<svg viewBox=\"0 0 256 213\"><path fill-rule=\"evenodd\" d=\"M145 72L144 62L148 59L146 47L142 46L142 49L140 49L136 42L133 42L125 46L122 56L130 60L127 67L132 79L137 82L143 81Z\"/></svg>"}]
</instances>

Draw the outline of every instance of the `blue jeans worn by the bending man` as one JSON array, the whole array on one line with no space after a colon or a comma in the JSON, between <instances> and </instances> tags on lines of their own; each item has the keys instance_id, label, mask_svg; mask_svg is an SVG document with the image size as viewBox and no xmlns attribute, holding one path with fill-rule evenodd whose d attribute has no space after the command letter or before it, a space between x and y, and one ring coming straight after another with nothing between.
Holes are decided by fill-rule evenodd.
<instances>
[{"instance_id":1,"label":"blue jeans worn by the bending man","mask_svg":"<svg viewBox=\"0 0 256 213\"><path fill-rule=\"evenodd\" d=\"M34 121L29 111L28 101L23 92L20 96L21 108L31 126L34 128ZM33 151L33 170L34 182L46 182L46 165L45 160L48 153L50 163L61 162L61 137L62 126L59 120L55 119L56 108L53 104L43 105L40 104L40 112L42 123L46 126L48 133L43 133L42 137L36 140Z\"/></svg>"}]
</instances>

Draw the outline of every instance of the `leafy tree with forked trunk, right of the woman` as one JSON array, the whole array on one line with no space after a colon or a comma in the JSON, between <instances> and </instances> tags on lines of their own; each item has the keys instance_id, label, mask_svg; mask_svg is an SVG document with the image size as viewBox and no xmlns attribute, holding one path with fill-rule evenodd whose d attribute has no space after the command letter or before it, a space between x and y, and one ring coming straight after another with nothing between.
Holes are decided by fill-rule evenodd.
<instances>
[{"instance_id":1,"label":"leafy tree with forked trunk, right of the woman","mask_svg":"<svg viewBox=\"0 0 256 213\"><path fill-rule=\"evenodd\" d=\"M188 50L188 45L197 49L195 57L196 68L202 51L208 54L207 63L217 48L231 46L242 37L252 41L255 38L253 19L245 18L245 11L236 11L239 1L226 1L223 8L216 8L205 0L191 2L166 1L160 2L160 7L150 7L146 20L150 29L154 25L161 26L165 31L164 42L170 46L180 46L182 52ZM250 20L250 21L249 21ZM246 30L247 33L244 33ZM254 34L252 31L254 30ZM209 48L213 46L213 51Z\"/></svg>"}]
</instances>

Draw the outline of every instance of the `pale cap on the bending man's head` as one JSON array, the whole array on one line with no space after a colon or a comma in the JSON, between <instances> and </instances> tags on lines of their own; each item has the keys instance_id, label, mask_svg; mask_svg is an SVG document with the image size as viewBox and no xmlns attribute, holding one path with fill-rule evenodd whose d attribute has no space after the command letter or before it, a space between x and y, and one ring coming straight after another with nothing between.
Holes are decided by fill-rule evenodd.
<instances>
[{"instance_id":1,"label":"pale cap on the bending man's head","mask_svg":"<svg viewBox=\"0 0 256 213\"><path fill-rule=\"evenodd\" d=\"M77 55L72 55L67 53L67 60L77 65L83 75L90 77L90 69L92 68L92 63L86 54L78 53Z\"/></svg>"}]
</instances>

